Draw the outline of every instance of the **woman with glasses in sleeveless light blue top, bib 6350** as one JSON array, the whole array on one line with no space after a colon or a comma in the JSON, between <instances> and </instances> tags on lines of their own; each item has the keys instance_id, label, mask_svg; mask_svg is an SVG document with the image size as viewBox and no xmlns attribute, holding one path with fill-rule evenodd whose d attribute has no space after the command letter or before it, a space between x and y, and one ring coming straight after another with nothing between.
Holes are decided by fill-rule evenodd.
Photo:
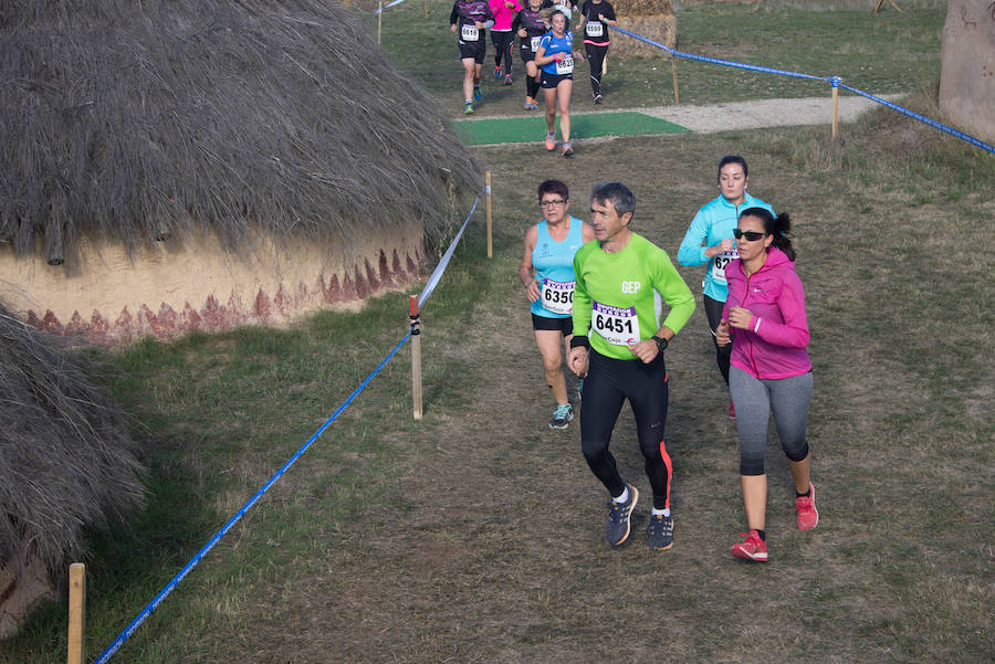
<instances>
[{"instance_id":1,"label":"woman with glasses in sleeveless light blue top, bib 6350","mask_svg":"<svg viewBox=\"0 0 995 664\"><path fill-rule=\"evenodd\" d=\"M569 215L570 191L559 180L538 186L543 221L525 233L525 254L519 278L532 303L535 345L543 357L546 384L553 390L556 410L549 426L566 429L574 419L563 375L563 347L569 348L574 334L574 254L594 240L594 229Z\"/></svg>"}]
</instances>

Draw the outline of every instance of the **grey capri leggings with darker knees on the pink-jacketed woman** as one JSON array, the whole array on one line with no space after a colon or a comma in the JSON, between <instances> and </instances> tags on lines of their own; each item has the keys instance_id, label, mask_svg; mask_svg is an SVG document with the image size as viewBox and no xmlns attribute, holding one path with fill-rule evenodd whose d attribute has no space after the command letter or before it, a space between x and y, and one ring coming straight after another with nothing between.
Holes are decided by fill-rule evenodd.
<instances>
[{"instance_id":1,"label":"grey capri leggings with darker knees on the pink-jacketed woman","mask_svg":"<svg viewBox=\"0 0 995 664\"><path fill-rule=\"evenodd\" d=\"M740 433L740 474L763 475L767 446L767 421L774 424L784 454L792 461L808 456L805 424L811 401L811 371L776 380L754 378L739 367L729 372L729 391L736 409Z\"/></svg>"}]
</instances>

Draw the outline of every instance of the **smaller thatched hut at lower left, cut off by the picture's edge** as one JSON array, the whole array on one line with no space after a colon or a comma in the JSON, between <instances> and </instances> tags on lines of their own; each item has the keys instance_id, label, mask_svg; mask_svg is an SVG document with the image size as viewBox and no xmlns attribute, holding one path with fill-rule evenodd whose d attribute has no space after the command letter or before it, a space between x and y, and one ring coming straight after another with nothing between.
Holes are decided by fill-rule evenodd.
<instances>
[{"instance_id":1,"label":"smaller thatched hut at lower left, cut off by the picture's edge","mask_svg":"<svg viewBox=\"0 0 995 664\"><path fill-rule=\"evenodd\" d=\"M124 415L0 304L0 639L78 559L84 526L140 503Z\"/></svg>"}]
</instances>

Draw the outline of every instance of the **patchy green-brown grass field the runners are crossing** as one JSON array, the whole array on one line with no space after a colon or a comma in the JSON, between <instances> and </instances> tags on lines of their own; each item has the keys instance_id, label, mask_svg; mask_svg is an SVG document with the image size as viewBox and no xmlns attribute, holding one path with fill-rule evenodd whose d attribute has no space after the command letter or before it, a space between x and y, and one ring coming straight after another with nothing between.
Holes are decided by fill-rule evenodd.
<instances>
[{"instance_id":1,"label":"patchy green-brown grass field the runners are crossing","mask_svg":"<svg viewBox=\"0 0 995 664\"><path fill-rule=\"evenodd\" d=\"M909 39L873 62L897 72L920 41L931 44L933 64L915 64L929 82L942 12L926 21L912 4L905 13L926 27L905 24ZM431 10L444 22L448 7ZM762 29L750 21L782 11L796 45L856 15L689 6L679 20L739 23L721 41L746 53ZM443 85L429 66L432 49L451 55L449 33L441 45L428 29L415 36L398 61L450 104L452 71ZM851 35L845 50L878 48L872 36ZM618 64L616 94L641 89L643 65ZM924 89L910 104L938 117L934 84L889 81L871 89ZM669 89L669 78L658 83ZM647 89L641 103L659 103ZM754 96L716 83L695 103L725 92ZM582 144L572 162L534 146L478 148L494 177L495 255L483 257L478 213L425 310L425 420L410 417L406 346L113 662L991 662L995 159L886 109L842 136L630 137ZM552 399L515 277L541 179L565 179L582 218L593 182L627 182L636 230L672 255L715 196L727 152L750 160L751 192L798 222L813 331L821 521L793 529L772 439L765 567L727 554L745 523L703 312L667 354L674 548L646 548L643 504L632 541L615 551L577 423L547 428ZM701 270L681 272L700 293ZM91 657L404 337L406 312L407 295L392 293L289 330L86 354L134 415L150 468L147 508L129 528L90 538ZM633 441L624 411L612 449L645 493ZM2 644L0 662L62 661L65 612L65 602L45 607Z\"/></svg>"}]
</instances>

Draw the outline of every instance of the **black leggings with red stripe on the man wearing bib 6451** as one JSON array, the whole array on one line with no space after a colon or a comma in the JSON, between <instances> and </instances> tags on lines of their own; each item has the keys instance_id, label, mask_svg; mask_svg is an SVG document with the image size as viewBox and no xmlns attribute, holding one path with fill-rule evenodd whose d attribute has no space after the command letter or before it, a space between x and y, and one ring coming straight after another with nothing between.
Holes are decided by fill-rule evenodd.
<instances>
[{"instance_id":1,"label":"black leggings with red stripe on the man wearing bib 6451","mask_svg":"<svg viewBox=\"0 0 995 664\"><path fill-rule=\"evenodd\" d=\"M638 359L617 360L590 351L582 394L580 450L591 472L612 496L620 495L626 483L616 467L615 456L608 451L608 443L622 402L628 399L636 415L646 474L653 489L653 507L670 507L672 465L663 444L668 398L662 355L643 365Z\"/></svg>"}]
</instances>

